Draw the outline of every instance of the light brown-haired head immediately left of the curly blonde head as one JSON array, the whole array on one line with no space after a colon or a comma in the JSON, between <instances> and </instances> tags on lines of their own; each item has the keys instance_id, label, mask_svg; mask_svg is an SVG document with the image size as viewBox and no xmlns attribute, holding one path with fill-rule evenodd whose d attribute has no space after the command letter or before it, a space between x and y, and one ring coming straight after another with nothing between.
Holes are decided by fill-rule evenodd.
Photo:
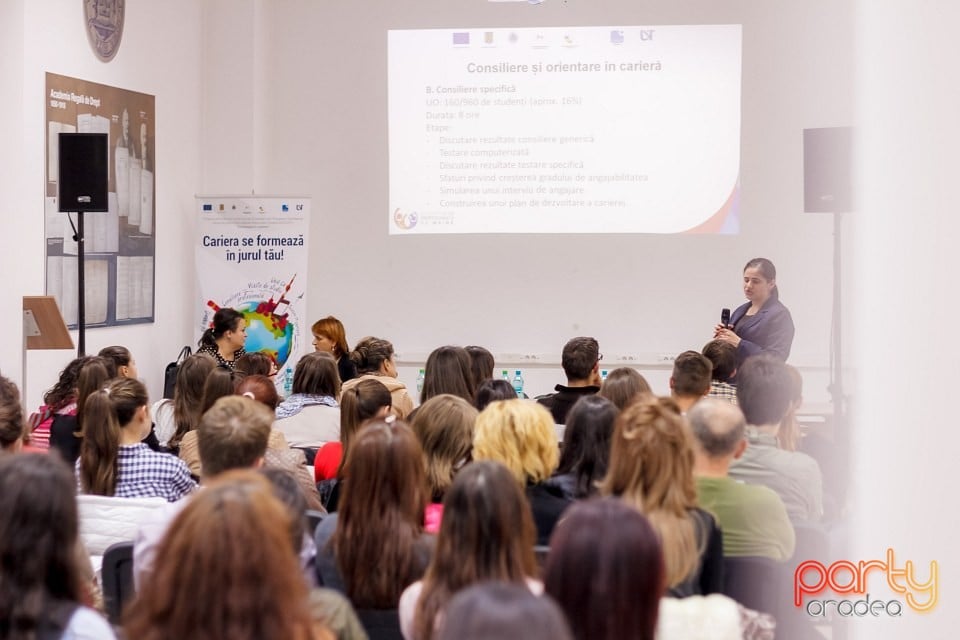
<instances>
[{"instance_id":1,"label":"light brown-haired head immediately left of the curly blonde head","mask_svg":"<svg viewBox=\"0 0 960 640\"><path fill-rule=\"evenodd\" d=\"M454 475L470 461L478 414L466 400L447 393L430 398L417 410L410 426L423 447L434 500L443 498Z\"/></svg>"}]
</instances>

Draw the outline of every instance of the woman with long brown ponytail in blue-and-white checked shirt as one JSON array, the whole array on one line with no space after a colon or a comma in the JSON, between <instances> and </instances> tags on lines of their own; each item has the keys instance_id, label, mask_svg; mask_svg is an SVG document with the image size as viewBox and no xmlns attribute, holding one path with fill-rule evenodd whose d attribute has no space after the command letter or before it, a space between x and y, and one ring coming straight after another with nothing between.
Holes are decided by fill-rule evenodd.
<instances>
[{"instance_id":1,"label":"woman with long brown ponytail in blue-and-white checked shirt","mask_svg":"<svg viewBox=\"0 0 960 640\"><path fill-rule=\"evenodd\" d=\"M176 502L196 488L190 470L142 442L150 431L147 389L139 380L114 378L87 398L77 460L82 492Z\"/></svg>"}]
</instances>

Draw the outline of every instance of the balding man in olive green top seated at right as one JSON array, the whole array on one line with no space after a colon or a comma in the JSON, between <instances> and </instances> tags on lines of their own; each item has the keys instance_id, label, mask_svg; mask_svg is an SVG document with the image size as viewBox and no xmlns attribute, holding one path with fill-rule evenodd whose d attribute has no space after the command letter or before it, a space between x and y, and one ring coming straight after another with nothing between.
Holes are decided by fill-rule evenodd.
<instances>
[{"instance_id":1,"label":"balding man in olive green top seated at right","mask_svg":"<svg viewBox=\"0 0 960 640\"><path fill-rule=\"evenodd\" d=\"M696 438L694 474L700 506L723 530L723 555L789 559L795 536L780 496L728 475L730 463L747 448L743 413L729 402L706 398L687 413L687 420Z\"/></svg>"}]
</instances>

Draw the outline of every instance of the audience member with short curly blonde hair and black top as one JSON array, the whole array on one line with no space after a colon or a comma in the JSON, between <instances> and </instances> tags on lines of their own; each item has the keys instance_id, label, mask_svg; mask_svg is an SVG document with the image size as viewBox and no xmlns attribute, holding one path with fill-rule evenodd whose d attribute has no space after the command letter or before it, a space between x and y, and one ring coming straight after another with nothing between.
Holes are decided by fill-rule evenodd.
<instances>
[{"instance_id":1,"label":"audience member with short curly blonde hair and black top","mask_svg":"<svg viewBox=\"0 0 960 640\"><path fill-rule=\"evenodd\" d=\"M558 487L546 482L557 468L558 449L553 418L536 402L494 402L477 416L473 458L500 462L525 488L537 526L537 544L547 544L571 503Z\"/></svg>"}]
</instances>

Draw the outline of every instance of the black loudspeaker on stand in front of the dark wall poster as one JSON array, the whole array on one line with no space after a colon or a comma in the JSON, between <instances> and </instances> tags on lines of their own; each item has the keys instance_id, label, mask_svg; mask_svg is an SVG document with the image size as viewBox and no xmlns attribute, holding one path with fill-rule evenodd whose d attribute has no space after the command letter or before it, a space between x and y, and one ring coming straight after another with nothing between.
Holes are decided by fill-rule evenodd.
<instances>
[{"instance_id":1,"label":"black loudspeaker on stand in front of the dark wall poster","mask_svg":"<svg viewBox=\"0 0 960 640\"><path fill-rule=\"evenodd\" d=\"M60 211L107 211L107 134L61 133Z\"/></svg>"}]
</instances>

